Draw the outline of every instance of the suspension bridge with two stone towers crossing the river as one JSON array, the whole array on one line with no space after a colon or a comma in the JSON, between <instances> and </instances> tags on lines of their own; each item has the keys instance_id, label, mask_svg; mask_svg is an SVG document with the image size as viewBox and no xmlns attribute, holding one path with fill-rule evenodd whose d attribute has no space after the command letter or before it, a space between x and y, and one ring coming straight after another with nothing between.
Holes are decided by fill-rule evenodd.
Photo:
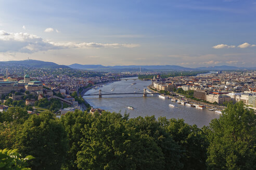
<instances>
[{"instance_id":1,"label":"suspension bridge with two stone towers crossing the river","mask_svg":"<svg viewBox=\"0 0 256 170\"><path fill-rule=\"evenodd\" d=\"M142 91L137 91L137 92L134 91L134 93L112 93L112 92L101 91L99 89L99 91L97 91L97 92L93 92L91 94L84 94L84 96L96 96L96 95L98 95L99 98L101 98L103 95L125 95L125 94L143 94L143 97L146 97L147 94L154 95L154 94L160 94L160 93L149 93L149 92L147 92L147 89L143 89Z\"/></svg>"}]
</instances>

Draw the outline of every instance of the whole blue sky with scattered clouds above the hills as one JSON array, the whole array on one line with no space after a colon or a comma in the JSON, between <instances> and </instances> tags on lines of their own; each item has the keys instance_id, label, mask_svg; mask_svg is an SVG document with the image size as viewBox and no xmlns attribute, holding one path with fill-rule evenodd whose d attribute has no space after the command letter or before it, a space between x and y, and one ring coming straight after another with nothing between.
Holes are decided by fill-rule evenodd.
<instances>
[{"instance_id":1,"label":"whole blue sky with scattered clouds above the hills","mask_svg":"<svg viewBox=\"0 0 256 170\"><path fill-rule=\"evenodd\" d=\"M0 61L256 65L256 0L0 0Z\"/></svg>"}]
</instances>

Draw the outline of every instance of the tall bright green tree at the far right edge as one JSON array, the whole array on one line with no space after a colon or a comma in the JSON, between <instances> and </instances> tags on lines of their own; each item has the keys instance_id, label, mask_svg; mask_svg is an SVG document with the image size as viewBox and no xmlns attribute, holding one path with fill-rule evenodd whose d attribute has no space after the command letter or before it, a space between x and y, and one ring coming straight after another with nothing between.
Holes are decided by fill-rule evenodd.
<instances>
[{"instance_id":1,"label":"tall bright green tree at the far right edge","mask_svg":"<svg viewBox=\"0 0 256 170\"><path fill-rule=\"evenodd\" d=\"M256 169L256 115L229 104L208 131L208 169Z\"/></svg>"}]
</instances>

